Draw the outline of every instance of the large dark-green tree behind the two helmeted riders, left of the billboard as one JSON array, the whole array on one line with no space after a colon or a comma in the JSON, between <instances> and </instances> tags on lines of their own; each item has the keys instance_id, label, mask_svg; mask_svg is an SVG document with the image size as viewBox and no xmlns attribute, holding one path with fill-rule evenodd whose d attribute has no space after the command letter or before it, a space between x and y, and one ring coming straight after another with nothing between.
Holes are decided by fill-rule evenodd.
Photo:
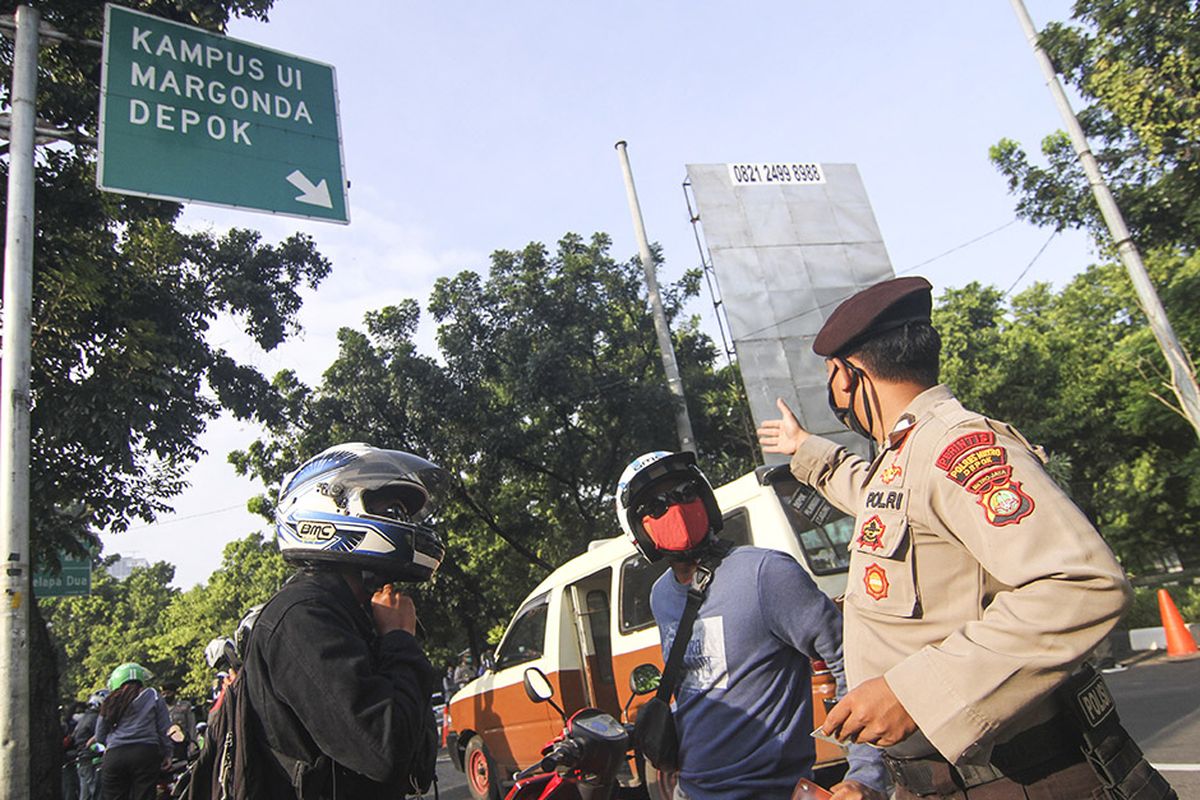
<instances>
[{"instance_id":1,"label":"large dark-green tree behind the two helmeted riders, left of the billboard","mask_svg":"<svg viewBox=\"0 0 1200 800\"><path fill-rule=\"evenodd\" d=\"M448 661L506 621L553 566L617 535L613 487L638 453L676 449L670 395L636 261L602 234L554 251L498 251L486 276L442 278L430 299L439 360L418 353L415 301L343 329L318 389L276 378L287 422L234 456L269 486L336 441L413 450L451 481L438 527L442 571L421 597L436 658ZM689 275L664 291L702 463L714 482L744 473L754 445L737 373L683 302ZM270 501L264 499L263 507ZM502 577L503 576L503 577Z\"/></svg>"}]
</instances>

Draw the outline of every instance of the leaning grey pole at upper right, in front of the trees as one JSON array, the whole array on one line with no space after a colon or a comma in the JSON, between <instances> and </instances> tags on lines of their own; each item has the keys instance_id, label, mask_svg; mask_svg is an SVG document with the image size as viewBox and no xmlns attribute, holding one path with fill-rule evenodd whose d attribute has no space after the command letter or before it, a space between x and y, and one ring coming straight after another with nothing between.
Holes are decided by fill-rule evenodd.
<instances>
[{"instance_id":1,"label":"leaning grey pole at upper right, in front of the trees","mask_svg":"<svg viewBox=\"0 0 1200 800\"><path fill-rule=\"evenodd\" d=\"M1063 91L1062 84L1058 83L1058 74L1055 72L1054 64L1038 42L1038 31L1033 26L1030 12L1025 8L1024 0L1012 0L1012 4L1013 11L1016 12L1016 18L1021 23L1021 30L1025 31L1025 37L1028 40L1030 47L1033 48L1033 55L1037 58L1038 66L1042 67L1042 74L1046 79L1046 86L1054 96L1058 113L1062 115L1062 121L1067 126L1070 143L1075 148L1075 155L1079 156L1084 173L1087 175L1087 182L1092 187L1096 203L1100 206L1100 215L1109 228L1109 234L1117 246L1117 254L1121 257L1121 263L1124 264L1126 270L1129 272L1129 279L1138 293L1138 301L1141 303L1141 308L1150 320L1150 329L1154 332L1158 347L1166 357L1166 365L1171 369L1171 389L1180 401L1183 416L1192 423L1196 435L1200 437L1200 389L1196 387L1195 369L1192 366L1192 361L1175 336L1171 320L1166 318L1166 309L1163 308L1163 303L1158 299L1158 293L1154 291L1154 284L1151 283L1150 276L1146 275L1146 267L1141 263L1141 254L1138 253L1138 246L1133 243L1133 237L1129 235L1129 228L1126 227L1121 209L1117 207L1117 203L1112 198L1112 192L1109 191L1108 184L1104 182L1100 168L1096 163L1096 156L1092 155L1092 150L1087 144L1084 128L1075 118L1075 112L1070 108L1067 92Z\"/></svg>"}]
</instances>

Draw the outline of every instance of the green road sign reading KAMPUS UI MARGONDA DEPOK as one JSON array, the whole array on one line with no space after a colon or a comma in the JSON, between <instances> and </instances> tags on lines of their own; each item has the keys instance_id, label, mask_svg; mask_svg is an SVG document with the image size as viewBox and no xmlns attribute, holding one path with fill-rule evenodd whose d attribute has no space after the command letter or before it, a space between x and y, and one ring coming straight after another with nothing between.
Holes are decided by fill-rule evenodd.
<instances>
[{"instance_id":1,"label":"green road sign reading KAMPUS UI MARGONDA DEPOK","mask_svg":"<svg viewBox=\"0 0 1200 800\"><path fill-rule=\"evenodd\" d=\"M334 67L108 5L96 185L349 222Z\"/></svg>"}]
</instances>

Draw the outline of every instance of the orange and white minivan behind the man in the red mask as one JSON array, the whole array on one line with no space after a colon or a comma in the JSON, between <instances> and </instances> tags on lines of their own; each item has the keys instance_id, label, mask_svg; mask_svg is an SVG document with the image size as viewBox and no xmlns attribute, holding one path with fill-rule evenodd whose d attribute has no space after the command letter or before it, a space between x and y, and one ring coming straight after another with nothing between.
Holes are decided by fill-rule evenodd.
<instances>
[{"instance_id":1,"label":"orange and white minivan behind the man in the red mask","mask_svg":"<svg viewBox=\"0 0 1200 800\"><path fill-rule=\"evenodd\" d=\"M845 591L853 519L799 483L786 465L761 467L715 492L725 519L722 539L788 553L827 595ZM542 745L562 730L563 720L553 708L526 696L527 668L546 674L568 714L594 706L620 718L634 667L662 668L650 587L666 569L665 561L648 564L628 539L618 536L593 542L529 593L487 669L448 706L448 748L455 765L466 771L473 798L503 796L512 774L538 762ZM818 670L812 704L817 724L824 720L821 699L833 694L830 684L828 673ZM649 697L634 699L630 716ZM844 758L841 748L817 742L818 766ZM630 770L623 781L642 782L637 771ZM670 776L653 768L646 772L650 799L667 800Z\"/></svg>"}]
</instances>

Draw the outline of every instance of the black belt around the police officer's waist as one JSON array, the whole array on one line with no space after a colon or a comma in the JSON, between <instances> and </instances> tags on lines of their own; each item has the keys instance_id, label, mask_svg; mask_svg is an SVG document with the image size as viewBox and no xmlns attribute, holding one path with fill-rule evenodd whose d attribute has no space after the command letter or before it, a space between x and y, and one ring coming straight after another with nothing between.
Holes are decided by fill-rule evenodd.
<instances>
[{"instance_id":1,"label":"black belt around the police officer's waist","mask_svg":"<svg viewBox=\"0 0 1200 800\"><path fill-rule=\"evenodd\" d=\"M892 780L913 794L950 794L1044 766L1056 771L1085 760L1079 727L1067 714L1022 730L996 745L988 764L950 764L940 754L893 758L883 753Z\"/></svg>"}]
</instances>

